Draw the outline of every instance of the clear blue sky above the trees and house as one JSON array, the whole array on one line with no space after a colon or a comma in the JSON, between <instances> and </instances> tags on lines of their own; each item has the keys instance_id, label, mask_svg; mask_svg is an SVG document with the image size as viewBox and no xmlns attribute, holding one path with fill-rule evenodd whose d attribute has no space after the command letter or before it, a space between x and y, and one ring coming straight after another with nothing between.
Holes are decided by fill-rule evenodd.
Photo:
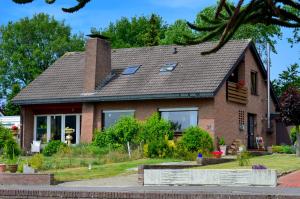
<instances>
[{"instance_id":1,"label":"clear blue sky above the trees and house","mask_svg":"<svg viewBox=\"0 0 300 199\"><path fill-rule=\"evenodd\" d=\"M0 1L0 25L9 21L17 21L23 17L31 17L44 12L53 15L58 20L64 20L70 25L73 33L88 34L91 27L105 28L110 22L121 17L133 17L156 13L162 16L166 23L171 24L177 19L194 21L197 13L203 8L216 4L216 0L91 0L82 10L69 14L61 11L62 7L75 5L75 0L56 0L48 5L44 0L34 0L33 3L17 5L12 0ZM277 78L287 66L300 63L300 44L293 48L287 42L292 31L282 29L283 37L277 40L277 54L271 53L271 79Z\"/></svg>"}]
</instances>

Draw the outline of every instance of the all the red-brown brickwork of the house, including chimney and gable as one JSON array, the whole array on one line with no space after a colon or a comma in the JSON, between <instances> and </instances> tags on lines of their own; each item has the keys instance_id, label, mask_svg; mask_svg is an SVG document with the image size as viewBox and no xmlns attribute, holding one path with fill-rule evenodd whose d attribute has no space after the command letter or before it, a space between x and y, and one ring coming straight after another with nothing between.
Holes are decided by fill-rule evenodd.
<instances>
[{"instance_id":1,"label":"all the red-brown brickwork of the house, including chimney and gable","mask_svg":"<svg viewBox=\"0 0 300 199\"><path fill-rule=\"evenodd\" d=\"M86 66L85 67L85 91L92 92L101 79L106 77L110 70L110 47L101 39L93 38L87 43ZM276 131L267 134L267 85L265 78L256 62L255 56L248 48L244 59L238 66L239 79L245 80L248 88L248 103L246 105L229 102L226 99L226 81L223 82L214 98L204 99L165 99L165 100L143 100L143 101L117 101L117 102L94 102L79 104L58 105L34 105L22 107L23 137L22 146L30 148L33 140L34 115L38 114L63 114L81 113L81 142L91 142L95 128L102 128L103 110L135 110L135 117L144 120L151 116L159 108L198 108L198 126L209 131L216 138L224 137L226 144L231 144L234 139L242 140L247 145L247 116L253 114L255 117L254 134L262 136L266 145L276 143ZM257 72L257 95L250 92L251 71ZM274 103L271 105L272 112L275 110ZM240 123L245 124L243 130ZM273 122L273 128L275 128Z\"/></svg>"}]
</instances>

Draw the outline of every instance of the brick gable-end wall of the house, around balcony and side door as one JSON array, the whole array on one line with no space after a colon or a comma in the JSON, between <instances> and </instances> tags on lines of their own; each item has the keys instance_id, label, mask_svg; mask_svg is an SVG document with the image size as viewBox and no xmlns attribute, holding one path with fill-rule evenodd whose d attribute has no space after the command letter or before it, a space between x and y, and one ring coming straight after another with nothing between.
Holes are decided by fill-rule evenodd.
<instances>
[{"instance_id":1,"label":"brick gable-end wall of the house, around balcony and side door","mask_svg":"<svg viewBox=\"0 0 300 199\"><path fill-rule=\"evenodd\" d=\"M244 67L245 66L245 67ZM252 113L256 115L256 127L255 137L262 136L264 138L266 145L271 145L276 143L276 133L268 135L266 133L266 113L267 113L267 84L260 73L258 64L256 63L252 52L248 49L245 53L245 60L242 63L241 70L239 71L241 77L244 76L245 86L248 88L248 103L247 105L241 105L238 103L228 102L226 100L226 84L224 84L215 97L215 126L216 126L216 136L224 136L225 142L229 145L234 139L242 140L243 144L247 145L247 113ZM258 73L258 95L251 95L251 71L257 71ZM239 110L245 113L245 129L243 131L239 130ZM274 104L272 102L271 112L274 112ZM273 126L275 123L273 121Z\"/></svg>"}]
</instances>

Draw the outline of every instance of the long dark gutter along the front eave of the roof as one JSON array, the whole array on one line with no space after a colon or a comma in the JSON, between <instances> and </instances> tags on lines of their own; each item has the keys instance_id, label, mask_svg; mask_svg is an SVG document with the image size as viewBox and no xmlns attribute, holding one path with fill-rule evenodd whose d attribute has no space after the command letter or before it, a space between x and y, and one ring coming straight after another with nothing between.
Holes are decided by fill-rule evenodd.
<instances>
[{"instance_id":1,"label":"long dark gutter along the front eave of the roof","mask_svg":"<svg viewBox=\"0 0 300 199\"><path fill-rule=\"evenodd\" d=\"M170 93L170 94L146 94L146 95L126 95L126 96L78 96L70 98L53 99L26 99L13 100L15 105L34 105L34 104L60 104L75 102L117 102L117 101L137 101L137 100L157 100L157 99L201 99L213 98L213 92L201 93Z\"/></svg>"}]
</instances>

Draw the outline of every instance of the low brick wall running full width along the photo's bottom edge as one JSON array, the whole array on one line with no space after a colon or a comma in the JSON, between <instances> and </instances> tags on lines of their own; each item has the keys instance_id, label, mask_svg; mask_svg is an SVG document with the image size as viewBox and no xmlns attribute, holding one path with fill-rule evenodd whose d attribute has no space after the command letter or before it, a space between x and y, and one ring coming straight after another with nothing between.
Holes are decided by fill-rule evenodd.
<instances>
[{"instance_id":1,"label":"low brick wall running full width along the photo's bottom edge","mask_svg":"<svg viewBox=\"0 0 300 199\"><path fill-rule=\"evenodd\" d=\"M195 190L194 189L182 189L174 188L168 189L167 187L164 190L159 188L154 188L150 190L143 190L138 187L136 189L129 188L129 190L118 190L116 188L105 188L105 191L98 190L89 190L84 189L80 190L78 188L73 189L64 189L64 188L44 188L44 189L24 189L24 188L0 188L0 197L1 198L118 198L118 199L299 199L298 195L294 194L276 194L254 191L252 193L245 191L220 191L220 187L216 187L216 191L205 191L205 190ZM200 188L201 189L201 188Z\"/></svg>"}]
</instances>

